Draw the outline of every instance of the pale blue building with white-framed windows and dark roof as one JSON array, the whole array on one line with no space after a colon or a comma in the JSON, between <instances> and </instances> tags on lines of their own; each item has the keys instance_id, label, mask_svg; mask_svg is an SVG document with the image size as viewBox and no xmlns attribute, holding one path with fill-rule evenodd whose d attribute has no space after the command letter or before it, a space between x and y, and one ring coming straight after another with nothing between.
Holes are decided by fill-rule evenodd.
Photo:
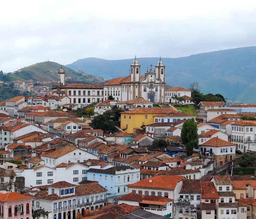
<instances>
[{"instance_id":1,"label":"pale blue building with white-framed windows and dark roof","mask_svg":"<svg viewBox=\"0 0 256 219\"><path fill-rule=\"evenodd\" d=\"M108 190L108 202L117 203L118 197L128 194L127 184L140 181L140 169L128 166L115 166L108 169L90 168L87 180L97 181Z\"/></svg>"}]
</instances>

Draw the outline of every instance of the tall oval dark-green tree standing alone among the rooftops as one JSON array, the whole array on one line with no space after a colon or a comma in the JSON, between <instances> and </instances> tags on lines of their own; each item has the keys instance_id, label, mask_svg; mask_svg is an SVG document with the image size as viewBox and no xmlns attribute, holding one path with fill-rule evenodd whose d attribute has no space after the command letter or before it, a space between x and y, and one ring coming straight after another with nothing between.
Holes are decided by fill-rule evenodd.
<instances>
[{"instance_id":1,"label":"tall oval dark-green tree standing alone among the rooftops","mask_svg":"<svg viewBox=\"0 0 256 219\"><path fill-rule=\"evenodd\" d=\"M197 137L197 126L194 118L186 120L181 129L181 140L186 145L188 155L193 153L193 149L197 145Z\"/></svg>"}]
</instances>

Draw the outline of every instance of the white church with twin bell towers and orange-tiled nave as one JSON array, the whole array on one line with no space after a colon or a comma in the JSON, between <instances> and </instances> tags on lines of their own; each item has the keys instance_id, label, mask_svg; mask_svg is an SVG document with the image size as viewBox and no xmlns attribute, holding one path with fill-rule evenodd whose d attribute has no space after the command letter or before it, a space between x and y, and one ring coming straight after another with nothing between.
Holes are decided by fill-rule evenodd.
<instances>
[{"instance_id":1,"label":"white church with twin bell towers and orange-tiled nave","mask_svg":"<svg viewBox=\"0 0 256 219\"><path fill-rule=\"evenodd\" d=\"M119 77L103 84L103 98L112 96L117 101L129 101L144 98L153 103L164 103L165 95L165 66L160 58L154 70L150 65L149 71L141 75L140 64L134 59L130 68L130 75Z\"/></svg>"}]
</instances>

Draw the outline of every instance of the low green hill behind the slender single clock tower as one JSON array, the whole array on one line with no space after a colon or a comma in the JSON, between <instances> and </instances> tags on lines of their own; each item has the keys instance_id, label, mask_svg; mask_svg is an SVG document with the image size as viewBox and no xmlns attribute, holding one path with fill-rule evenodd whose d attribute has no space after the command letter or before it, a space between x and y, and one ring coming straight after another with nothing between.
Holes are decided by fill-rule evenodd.
<instances>
[{"instance_id":1,"label":"low green hill behind the slender single clock tower","mask_svg":"<svg viewBox=\"0 0 256 219\"><path fill-rule=\"evenodd\" d=\"M56 62L40 62L34 65L21 68L13 73L3 74L0 72L0 80L13 81L13 80L33 80L39 82L57 81L57 73L60 69L60 64ZM70 69L63 66L67 82L83 82L83 83L100 83L102 78L94 77L83 72Z\"/></svg>"}]
</instances>

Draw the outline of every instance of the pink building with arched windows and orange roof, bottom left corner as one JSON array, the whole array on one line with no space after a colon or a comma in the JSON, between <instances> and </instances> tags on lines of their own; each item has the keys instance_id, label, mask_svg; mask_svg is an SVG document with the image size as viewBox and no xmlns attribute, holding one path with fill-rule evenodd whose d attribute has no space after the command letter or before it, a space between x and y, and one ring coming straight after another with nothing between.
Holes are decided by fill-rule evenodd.
<instances>
[{"instance_id":1,"label":"pink building with arched windows and orange roof, bottom left corner","mask_svg":"<svg viewBox=\"0 0 256 219\"><path fill-rule=\"evenodd\" d=\"M0 193L0 218L31 219L33 198L16 192Z\"/></svg>"}]
</instances>

